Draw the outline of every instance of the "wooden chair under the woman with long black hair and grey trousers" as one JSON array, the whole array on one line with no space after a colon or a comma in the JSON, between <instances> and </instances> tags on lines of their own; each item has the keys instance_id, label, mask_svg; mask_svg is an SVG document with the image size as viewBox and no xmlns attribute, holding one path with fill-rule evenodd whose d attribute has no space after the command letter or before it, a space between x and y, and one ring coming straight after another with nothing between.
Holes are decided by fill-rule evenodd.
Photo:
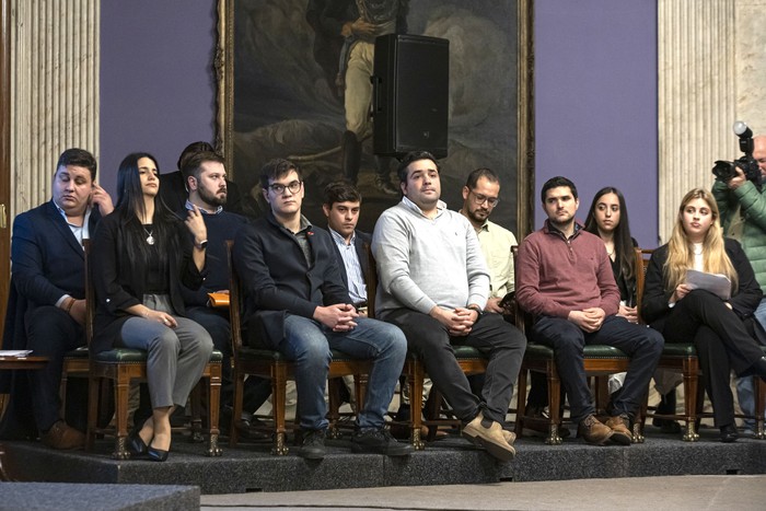
<instances>
[{"instance_id":1,"label":"wooden chair under the woman with long black hair and grey trousers","mask_svg":"<svg viewBox=\"0 0 766 511\"><path fill-rule=\"evenodd\" d=\"M90 346L93 339L93 323L95 318L95 290L91 277L90 266L90 240L84 241L85 248L85 338ZM208 443L206 454L220 456L222 451L218 445L218 415L221 397L221 360L220 351L213 350L210 361L205 367L202 378L194 390L192 403L199 414L199 394L204 386L208 397ZM130 453L127 450L128 437L128 395L130 384L147 381L147 352L139 349L114 348L100 353L90 353L89 357L89 385L88 385L88 433L85 450L92 451L96 434L113 434L115 446L112 457L127 460ZM100 393L104 392L103 383L111 382L114 386L115 427L98 426ZM201 427L200 420L193 422L193 428ZM194 431L193 431L194 433Z\"/></svg>"}]
</instances>

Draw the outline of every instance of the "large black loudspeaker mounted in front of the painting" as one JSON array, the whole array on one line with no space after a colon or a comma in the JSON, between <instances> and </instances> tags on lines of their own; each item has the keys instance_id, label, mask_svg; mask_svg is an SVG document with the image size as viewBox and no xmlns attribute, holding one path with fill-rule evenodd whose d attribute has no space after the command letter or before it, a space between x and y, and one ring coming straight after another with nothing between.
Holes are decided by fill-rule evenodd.
<instances>
[{"instance_id":1,"label":"large black loudspeaker mounted in front of the painting","mask_svg":"<svg viewBox=\"0 0 766 511\"><path fill-rule=\"evenodd\" d=\"M378 37L371 80L375 154L423 150L446 156L450 42L402 34Z\"/></svg>"}]
</instances>

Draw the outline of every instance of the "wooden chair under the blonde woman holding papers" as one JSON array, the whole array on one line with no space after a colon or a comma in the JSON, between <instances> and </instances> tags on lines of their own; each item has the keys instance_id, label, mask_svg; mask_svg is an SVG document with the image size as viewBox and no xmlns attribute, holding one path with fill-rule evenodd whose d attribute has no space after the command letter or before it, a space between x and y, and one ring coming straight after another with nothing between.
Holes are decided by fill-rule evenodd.
<instances>
[{"instance_id":1,"label":"wooden chair under the blonde woman holding papers","mask_svg":"<svg viewBox=\"0 0 766 511\"><path fill-rule=\"evenodd\" d=\"M643 299L645 279L647 268L649 267L649 260L653 252L652 249L636 248L636 294L638 298L637 309L639 311L640 323L643 323L643 318L640 317L640 311L641 301ZM766 347L764 348L764 352L766 353ZM665 342L660 362L658 363L658 369L665 369L682 374L684 385L684 411L683 414L657 414L655 411L649 411L645 415L645 420L647 417L657 417L658 419L684 421L683 440L686 442L696 442L699 440L697 420L709 416L709 414L703 414L705 388L699 385L699 374L701 371L699 369L697 349L694 342ZM756 438L766 439L766 431L764 431L766 383L757 376L754 376L754 379L755 417L741 414L736 415L736 417L755 419L757 425ZM641 428L643 428L643 425L641 425Z\"/></svg>"}]
</instances>

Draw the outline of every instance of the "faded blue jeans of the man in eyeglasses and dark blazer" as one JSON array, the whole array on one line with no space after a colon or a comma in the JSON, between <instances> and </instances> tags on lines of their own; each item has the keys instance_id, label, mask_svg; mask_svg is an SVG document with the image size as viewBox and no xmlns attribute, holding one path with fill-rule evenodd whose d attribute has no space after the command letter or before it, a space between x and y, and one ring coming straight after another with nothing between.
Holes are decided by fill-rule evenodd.
<instances>
[{"instance_id":1,"label":"faded blue jeans of the man in eyeglasses and dark blazer","mask_svg":"<svg viewBox=\"0 0 766 511\"><path fill-rule=\"evenodd\" d=\"M287 314L285 338L275 349L295 363L295 387L301 428L327 428L324 391L332 360L330 349L356 359L372 360L364 407L357 414L359 429L382 428L394 395L404 360L407 339L396 326L368 317L358 317L350 332L333 332L307 317Z\"/></svg>"}]
</instances>

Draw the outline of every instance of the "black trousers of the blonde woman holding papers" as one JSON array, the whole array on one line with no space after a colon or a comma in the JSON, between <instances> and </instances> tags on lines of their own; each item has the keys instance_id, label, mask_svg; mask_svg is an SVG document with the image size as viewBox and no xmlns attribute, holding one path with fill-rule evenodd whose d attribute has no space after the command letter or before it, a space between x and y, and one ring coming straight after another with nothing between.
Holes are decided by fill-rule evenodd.
<instances>
[{"instance_id":1,"label":"black trousers of the blonde woman holding papers","mask_svg":"<svg viewBox=\"0 0 766 511\"><path fill-rule=\"evenodd\" d=\"M668 342L694 341L716 426L734 423L730 373L743 374L764 356L745 322L720 298L695 290L657 325Z\"/></svg>"}]
</instances>

